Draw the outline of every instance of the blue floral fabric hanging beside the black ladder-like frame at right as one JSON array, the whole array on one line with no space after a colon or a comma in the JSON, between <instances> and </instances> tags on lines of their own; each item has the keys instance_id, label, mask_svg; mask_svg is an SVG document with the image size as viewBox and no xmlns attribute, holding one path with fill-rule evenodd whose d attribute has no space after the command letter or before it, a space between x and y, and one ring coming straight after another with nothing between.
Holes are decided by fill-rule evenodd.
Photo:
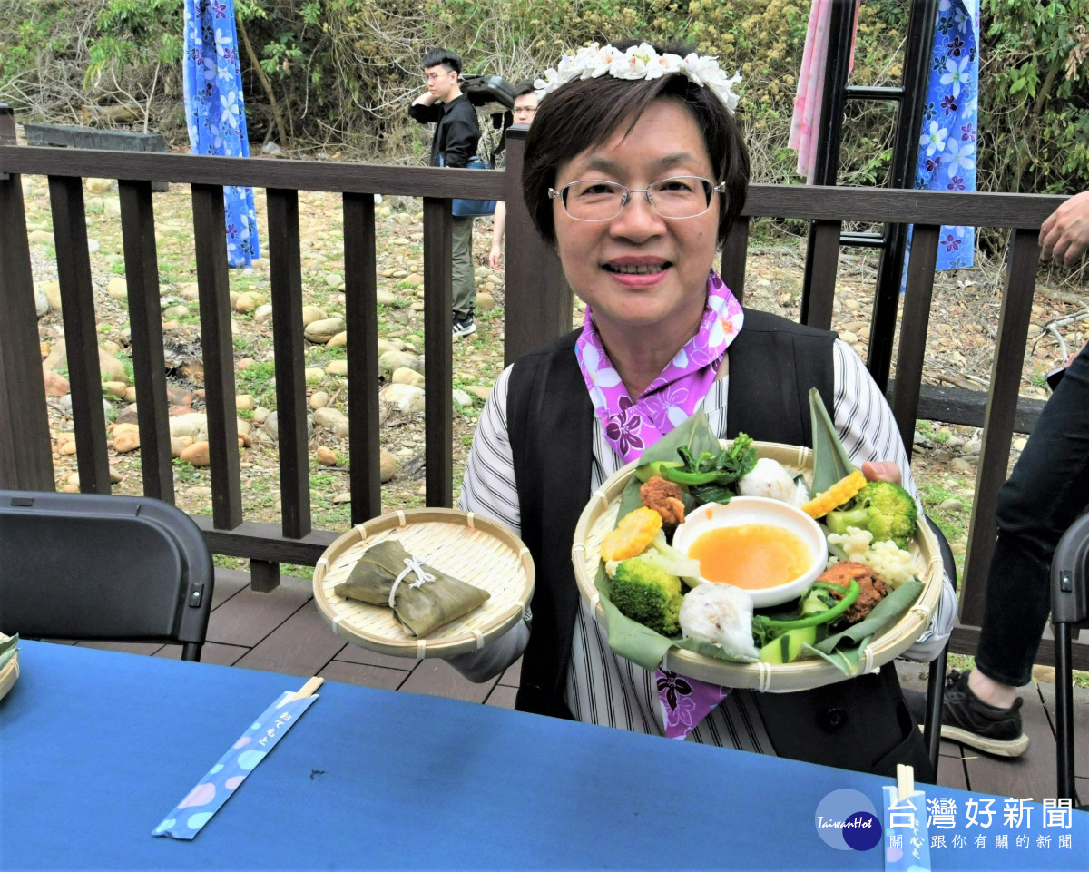
<instances>
[{"instance_id":1,"label":"blue floral fabric hanging beside the black ladder-like frame at right","mask_svg":"<svg viewBox=\"0 0 1089 872\"><path fill-rule=\"evenodd\" d=\"M938 8L919 137L917 189L976 189L978 72L979 0L942 0ZM907 250L911 250L910 237ZM970 267L975 256L975 228L942 226L937 269ZM901 281L903 290L907 281L906 261Z\"/></svg>"}]
</instances>

